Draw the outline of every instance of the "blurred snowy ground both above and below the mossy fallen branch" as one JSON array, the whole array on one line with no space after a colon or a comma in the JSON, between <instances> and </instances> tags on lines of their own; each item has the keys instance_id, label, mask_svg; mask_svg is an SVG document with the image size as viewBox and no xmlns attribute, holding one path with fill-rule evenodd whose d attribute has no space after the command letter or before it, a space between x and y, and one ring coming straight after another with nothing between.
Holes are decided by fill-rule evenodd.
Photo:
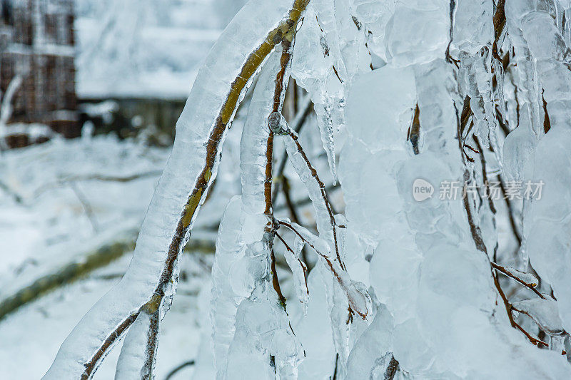
<instances>
[{"instance_id":1,"label":"blurred snowy ground both above and below the mossy fallen branch","mask_svg":"<svg viewBox=\"0 0 571 380\"><path fill-rule=\"evenodd\" d=\"M38 279L85 262L86 255L101 247L134 242L169 153L169 149L112 136L53 140L4 153L0 158L0 312L14 294L22 296L22 289L38 286ZM223 197L231 188L221 186L218 194ZM211 225L219 218L217 207L223 205L212 202L205 207L210 212L201 222ZM121 279L131 256L127 250L87 277L80 276L0 317L4 342L0 378L39 379L79 319ZM172 349L161 354L158 379L196 353L195 319L200 315L196 297L208 283L208 260L211 256L197 258L192 252L183 260L183 281L161 336L161 346ZM96 379L112 378L116 356L118 350L101 366Z\"/></svg>"}]
</instances>

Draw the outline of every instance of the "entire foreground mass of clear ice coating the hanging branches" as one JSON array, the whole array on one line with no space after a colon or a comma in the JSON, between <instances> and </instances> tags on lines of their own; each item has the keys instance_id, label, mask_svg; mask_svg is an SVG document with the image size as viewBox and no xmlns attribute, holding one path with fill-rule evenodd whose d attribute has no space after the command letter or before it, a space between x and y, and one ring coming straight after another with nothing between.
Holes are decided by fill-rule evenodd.
<instances>
[{"instance_id":1,"label":"entire foreground mass of clear ice coating the hanging branches","mask_svg":"<svg viewBox=\"0 0 571 380\"><path fill-rule=\"evenodd\" d=\"M141 332L168 311L176 260L163 293L149 297L228 89L262 66L241 76L257 46L268 57L243 128L242 195L226 207L212 271L217 379L569 378L569 1L295 1L297 12L310 4L299 24L285 16L292 1L282 3L250 1L213 48L129 271L64 342L46 379L81 376L127 322L118 378L152 369ZM290 75L313 102L310 126L338 175L345 216L282 113ZM244 95L231 93L235 103ZM230 123L236 110L227 111ZM273 214L274 140L317 233ZM503 242L510 225L515 248ZM276 276L277 237L303 305L297 316ZM318 257L309 274L304 246Z\"/></svg>"}]
</instances>

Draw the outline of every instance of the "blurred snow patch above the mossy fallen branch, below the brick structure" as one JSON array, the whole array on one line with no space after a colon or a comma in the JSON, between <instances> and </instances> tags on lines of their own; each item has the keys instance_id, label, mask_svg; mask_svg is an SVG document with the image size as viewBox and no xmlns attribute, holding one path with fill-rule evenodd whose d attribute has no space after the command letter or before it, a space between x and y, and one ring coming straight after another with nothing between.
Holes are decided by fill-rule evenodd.
<instances>
[{"instance_id":1,"label":"blurred snow patch above the mossy fallen branch, below the brick structure","mask_svg":"<svg viewBox=\"0 0 571 380\"><path fill-rule=\"evenodd\" d=\"M10 190L1 192L1 234L6 237L0 249L2 297L61 265L83 260L103 242L123 235L132 239L166 155L164 149L112 137L89 143L52 140L6 152L0 167ZM124 183L103 178L133 175L141 178ZM74 188L89 200L91 220Z\"/></svg>"}]
</instances>

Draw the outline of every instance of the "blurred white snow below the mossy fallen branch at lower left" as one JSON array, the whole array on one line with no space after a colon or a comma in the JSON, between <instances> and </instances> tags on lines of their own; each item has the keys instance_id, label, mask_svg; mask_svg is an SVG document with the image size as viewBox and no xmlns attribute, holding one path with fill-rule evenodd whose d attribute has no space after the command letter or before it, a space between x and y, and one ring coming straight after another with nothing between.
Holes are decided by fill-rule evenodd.
<instances>
[{"instance_id":1,"label":"blurred white snow below the mossy fallen branch at lower left","mask_svg":"<svg viewBox=\"0 0 571 380\"><path fill-rule=\"evenodd\" d=\"M161 351L158 356L157 379L165 379L168 372L196 357L200 338L198 312L201 289L209 292L208 272L203 268L211 257L186 255L182 269L184 279L178 287L176 301L163 324ZM2 379L39 379L54 360L59 345L79 322L87 310L114 283L121 279L131 253L126 254L112 266L98 269L89 277L69 284L27 304L18 312L9 315L0 323L0 377ZM205 294L208 297L208 294ZM204 303L204 302L202 302ZM208 307L208 304L203 305ZM96 372L94 379L113 379L117 357L121 347L111 351L106 361ZM193 371L188 367L172 379L188 379Z\"/></svg>"}]
</instances>

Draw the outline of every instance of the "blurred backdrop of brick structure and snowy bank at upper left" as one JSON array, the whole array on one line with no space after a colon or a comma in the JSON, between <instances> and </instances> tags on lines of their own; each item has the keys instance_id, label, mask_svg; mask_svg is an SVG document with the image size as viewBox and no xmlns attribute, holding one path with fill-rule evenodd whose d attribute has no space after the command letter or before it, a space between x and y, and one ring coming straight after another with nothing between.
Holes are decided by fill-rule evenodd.
<instances>
[{"instance_id":1,"label":"blurred backdrop of brick structure and snowy bank at upper left","mask_svg":"<svg viewBox=\"0 0 571 380\"><path fill-rule=\"evenodd\" d=\"M78 137L86 122L121 138L150 126L168 143L198 65L244 2L2 0L8 145Z\"/></svg>"}]
</instances>

